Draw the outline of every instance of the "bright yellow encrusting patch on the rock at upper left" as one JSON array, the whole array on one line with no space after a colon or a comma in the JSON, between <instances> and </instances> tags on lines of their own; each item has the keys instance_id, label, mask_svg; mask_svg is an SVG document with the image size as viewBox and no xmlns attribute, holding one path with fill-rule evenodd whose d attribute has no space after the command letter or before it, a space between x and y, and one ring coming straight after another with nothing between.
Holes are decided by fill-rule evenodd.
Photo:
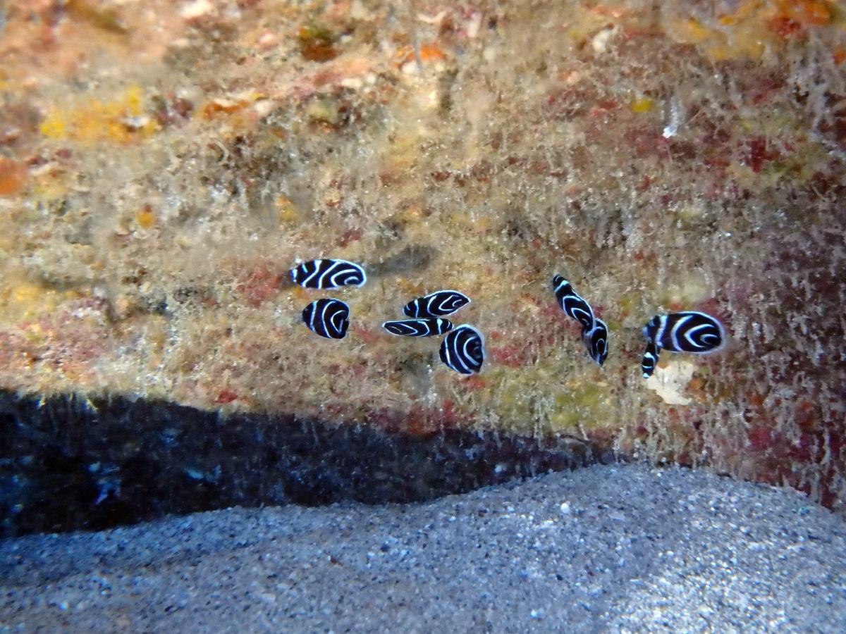
<instances>
[{"instance_id":1,"label":"bright yellow encrusting patch on the rock at upper left","mask_svg":"<svg viewBox=\"0 0 846 634\"><path fill-rule=\"evenodd\" d=\"M41 122L41 134L48 139L82 143L126 144L146 139L157 132L159 125L145 115L144 103L144 89L131 85L113 101L91 99L70 109L53 107Z\"/></svg>"}]
</instances>

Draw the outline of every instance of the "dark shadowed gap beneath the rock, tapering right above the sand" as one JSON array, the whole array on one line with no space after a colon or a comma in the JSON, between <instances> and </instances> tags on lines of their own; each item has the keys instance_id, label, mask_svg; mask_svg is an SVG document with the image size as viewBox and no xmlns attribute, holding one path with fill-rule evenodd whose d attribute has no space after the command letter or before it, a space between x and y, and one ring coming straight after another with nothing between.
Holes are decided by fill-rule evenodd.
<instances>
[{"instance_id":1,"label":"dark shadowed gap beneath the rock, tapering right above the sand","mask_svg":"<svg viewBox=\"0 0 846 634\"><path fill-rule=\"evenodd\" d=\"M0 391L0 536L228 506L431 500L616 460L569 437L459 429L421 437L143 398Z\"/></svg>"}]
</instances>

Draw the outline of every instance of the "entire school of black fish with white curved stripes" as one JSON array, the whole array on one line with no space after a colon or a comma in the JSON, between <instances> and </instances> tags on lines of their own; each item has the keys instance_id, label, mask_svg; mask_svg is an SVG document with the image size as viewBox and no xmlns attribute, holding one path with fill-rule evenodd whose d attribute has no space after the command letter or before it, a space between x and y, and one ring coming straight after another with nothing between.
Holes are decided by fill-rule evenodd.
<instances>
[{"instance_id":1,"label":"entire school of black fish with white curved stripes","mask_svg":"<svg viewBox=\"0 0 846 634\"><path fill-rule=\"evenodd\" d=\"M347 260L309 260L290 271L291 281L304 288L332 290L361 287L367 281L361 265ZM609 352L607 324L594 313L591 304L563 276L552 277L552 292L558 305L581 326L581 338L588 356L599 366ZM442 290L412 299L403 307L408 317L382 324L395 336L442 336L441 361L459 374L475 374L485 363L485 338L473 325L453 326L444 319L470 303L463 292ZM349 328L349 305L337 298L316 299L303 309L303 323L316 335L327 339L343 339ZM648 379L656 369L663 350L673 353L707 354L721 350L726 340L722 324L709 314L697 311L659 314L643 328L646 350L640 361L643 376Z\"/></svg>"}]
</instances>

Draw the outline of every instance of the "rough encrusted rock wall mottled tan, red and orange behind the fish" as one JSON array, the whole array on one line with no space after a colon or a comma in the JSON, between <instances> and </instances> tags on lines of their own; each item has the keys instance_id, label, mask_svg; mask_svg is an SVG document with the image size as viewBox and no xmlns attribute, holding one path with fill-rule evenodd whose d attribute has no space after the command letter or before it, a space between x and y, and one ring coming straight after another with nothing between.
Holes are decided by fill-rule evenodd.
<instances>
[{"instance_id":1,"label":"rough encrusted rock wall mottled tan, red and orange behind the fish","mask_svg":"<svg viewBox=\"0 0 846 634\"><path fill-rule=\"evenodd\" d=\"M839 3L4 6L4 388L561 432L843 509ZM340 344L286 282L321 255L371 271ZM380 331L438 287L478 377ZM645 383L640 327L681 308L733 341Z\"/></svg>"}]
</instances>

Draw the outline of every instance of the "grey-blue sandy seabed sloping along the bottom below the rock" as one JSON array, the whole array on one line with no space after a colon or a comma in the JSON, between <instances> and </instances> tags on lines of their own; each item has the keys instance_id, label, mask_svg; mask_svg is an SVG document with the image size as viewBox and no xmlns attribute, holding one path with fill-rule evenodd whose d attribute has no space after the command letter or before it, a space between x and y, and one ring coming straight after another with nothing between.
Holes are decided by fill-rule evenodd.
<instances>
[{"instance_id":1,"label":"grey-blue sandy seabed sloping along the bottom below the rock","mask_svg":"<svg viewBox=\"0 0 846 634\"><path fill-rule=\"evenodd\" d=\"M844 628L842 518L678 468L0 543L0 631Z\"/></svg>"}]
</instances>

